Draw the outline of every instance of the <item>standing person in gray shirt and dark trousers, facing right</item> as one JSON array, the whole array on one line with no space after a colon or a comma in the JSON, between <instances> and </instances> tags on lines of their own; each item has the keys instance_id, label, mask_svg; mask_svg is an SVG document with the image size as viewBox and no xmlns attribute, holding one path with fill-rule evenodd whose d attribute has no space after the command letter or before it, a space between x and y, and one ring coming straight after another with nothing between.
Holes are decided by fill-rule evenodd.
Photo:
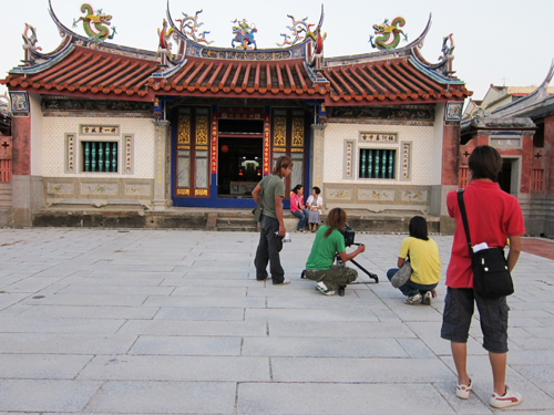
<instances>
[{"instance_id":1,"label":"standing person in gray shirt and dark trousers, facing right","mask_svg":"<svg viewBox=\"0 0 554 415\"><path fill-rule=\"evenodd\" d=\"M285 270L280 264L279 252L283 248L285 222L283 220L283 198L285 197L284 177L290 175L293 160L287 156L277 158L271 175L266 176L253 190L252 196L256 204L261 204L261 232L258 249L256 250L256 279L264 281L268 278L267 262L271 271L274 286L289 284L285 279Z\"/></svg>"}]
</instances>

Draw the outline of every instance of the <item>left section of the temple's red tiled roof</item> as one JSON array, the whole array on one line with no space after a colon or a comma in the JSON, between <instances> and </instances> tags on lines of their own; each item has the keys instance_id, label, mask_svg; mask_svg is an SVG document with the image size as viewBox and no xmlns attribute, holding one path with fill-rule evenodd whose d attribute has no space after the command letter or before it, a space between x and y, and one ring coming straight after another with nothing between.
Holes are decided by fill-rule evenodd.
<instances>
[{"instance_id":1,"label":"left section of the temple's red tiled roof","mask_svg":"<svg viewBox=\"0 0 554 415\"><path fill-rule=\"evenodd\" d=\"M146 83L157 62L134 59L86 48L75 49L62 61L37 74L9 74L11 87L93 94L145 96Z\"/></svg>"}]
</instances>

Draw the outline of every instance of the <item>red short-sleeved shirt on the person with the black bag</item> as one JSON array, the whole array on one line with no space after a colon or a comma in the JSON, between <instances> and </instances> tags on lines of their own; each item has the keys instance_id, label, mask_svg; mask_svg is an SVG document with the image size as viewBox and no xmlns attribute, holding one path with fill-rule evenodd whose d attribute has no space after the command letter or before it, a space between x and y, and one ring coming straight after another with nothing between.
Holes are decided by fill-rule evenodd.
<instances>
[{"instance_id":1,"label":"red short-sleeved shirt on the person with the black bag","mask_svg":"<svg viewBox=\"0 0 554 415\"><path fill-rule=\"evenodd\" d=\"M525 232L517 199L503 191L497 183L471 181L463 191L463 200L472 246L486 242L491 248L504 248L509 236L520 236ZM452 257L447 269L447 286L473 288L471 255L455 190L448 194L447 207L450 217L455 219Z\"/></svg>"}]
</instances>

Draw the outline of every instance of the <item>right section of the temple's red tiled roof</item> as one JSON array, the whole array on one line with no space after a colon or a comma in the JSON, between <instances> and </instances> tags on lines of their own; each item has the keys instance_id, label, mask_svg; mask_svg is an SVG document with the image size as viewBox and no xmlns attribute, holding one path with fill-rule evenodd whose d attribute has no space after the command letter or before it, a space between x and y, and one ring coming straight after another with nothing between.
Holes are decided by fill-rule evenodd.
<instances>
[{"instance_id":1,"label":"right section of the temple's red tiled roof","mask_svg":"<svg viewBox=\"0 0 554 415\"><path fill-rule=\"evenodd\" d=\"M332 102L434 101L469 96L463 84L442 84L419 71L409 58L326 68Z\"/></svg>"}]
</instances>

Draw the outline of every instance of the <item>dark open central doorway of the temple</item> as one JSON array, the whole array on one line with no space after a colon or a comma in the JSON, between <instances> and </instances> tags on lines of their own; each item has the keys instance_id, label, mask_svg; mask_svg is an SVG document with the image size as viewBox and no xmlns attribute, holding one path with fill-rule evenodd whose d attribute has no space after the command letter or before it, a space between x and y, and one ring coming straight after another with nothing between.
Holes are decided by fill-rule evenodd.
<instances>
[{"instance_id":1,"label":"dark open central doorway of the temple","mask_svg":"<svg viewBox=\"0 0 554 415\"><path fill-rule=\"evenodd\" d=\"M252 198L263 177L264 122L219 120L217 197Z\"/></svg>"}]
</instances>

